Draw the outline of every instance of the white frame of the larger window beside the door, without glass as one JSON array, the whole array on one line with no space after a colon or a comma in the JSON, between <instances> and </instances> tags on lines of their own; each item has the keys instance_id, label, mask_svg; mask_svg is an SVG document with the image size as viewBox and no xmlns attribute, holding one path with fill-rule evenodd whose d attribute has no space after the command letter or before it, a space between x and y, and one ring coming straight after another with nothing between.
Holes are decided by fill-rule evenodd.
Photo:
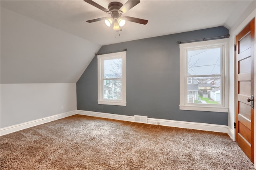
<instances>
[{"instance_id":1,"label":"white frame of the larger window beside the door, without glass","mask_svg":"<svg viewBox=\"0 0 256 170\"><path fill-rule=\"evenodd\" d=\"M191 111L212 111L212 112L225 112L228 113L228 80L229 80L229 38L209 40L203 42L192 42L180 44L180 110ZM215 104L202 104L202 103L188 103L186 101L187 91L187 51L192 49L200 49L202 47L222 47L222 102L220 105Z\"/></svg>"}]
</instances>

